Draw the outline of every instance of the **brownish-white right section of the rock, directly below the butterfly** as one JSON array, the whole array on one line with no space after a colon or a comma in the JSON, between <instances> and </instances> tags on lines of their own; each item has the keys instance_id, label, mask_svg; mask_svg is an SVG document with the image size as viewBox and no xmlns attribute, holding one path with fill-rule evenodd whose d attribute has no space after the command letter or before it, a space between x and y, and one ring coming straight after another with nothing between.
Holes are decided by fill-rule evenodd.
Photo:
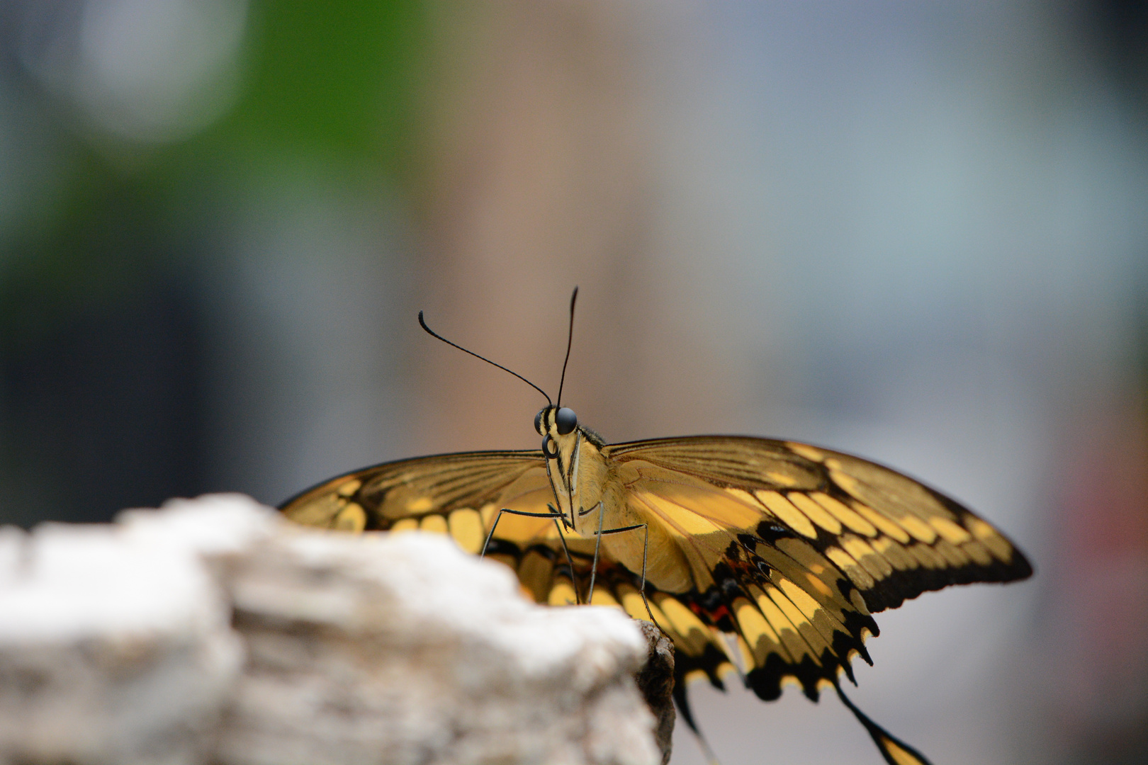
<instances>
[{"instance_id":1,"label":"brownish-white right section of the rock, directly below the butterfly","mask_svg":"<svg viewBox=\"0 0 1148 765\"><path fill-rule=\"evenodd\" d=\"M226 763L661 762L633 620L529 603L444 537L288 533L232 586L250 658Z\"/></svg>"}]
</instances>

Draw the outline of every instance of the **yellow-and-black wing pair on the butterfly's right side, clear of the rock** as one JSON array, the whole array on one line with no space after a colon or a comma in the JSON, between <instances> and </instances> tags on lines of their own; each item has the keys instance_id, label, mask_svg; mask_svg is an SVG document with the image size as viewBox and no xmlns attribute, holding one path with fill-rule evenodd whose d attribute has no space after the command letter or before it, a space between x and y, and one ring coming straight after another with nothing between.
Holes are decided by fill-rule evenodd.
<instances>
[{"instance_id":1,"label":"yellow-and-black wing pair on the butterfly's right side, clear of the rock","mask_svg":"<svg viewBox=\"0 0 1148 765\"><path fill-rule=\"evenodd\" d=\"M851 674L854 655L869 661L872 612L947 585L1032 572L967 508L848 454L730 436L603 453L635 509L677 530L689 561L692 590L651 594L677 633L682 680L704 673L720 686L736 668L762 698L792 678L816 700L820 685Z\"/></svg>"}]
</instances>

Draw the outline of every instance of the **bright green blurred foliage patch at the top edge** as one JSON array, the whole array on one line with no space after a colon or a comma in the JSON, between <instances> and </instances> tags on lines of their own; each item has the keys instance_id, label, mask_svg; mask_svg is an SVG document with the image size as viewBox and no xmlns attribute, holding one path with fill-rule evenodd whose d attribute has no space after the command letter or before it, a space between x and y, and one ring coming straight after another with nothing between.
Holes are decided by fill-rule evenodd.
<instances>
[{"instance_id":1,"label":"bright green blurred foliage patch at the top edge","mask_svg":"<svg viewBox=\"0 0 1148 765\"><path fill-rule=\"evenodd\" d=\"M422 5L265 0L253 11L248 84L212 138L409 171L427 49Z\"/></svg>"}]
</instances>

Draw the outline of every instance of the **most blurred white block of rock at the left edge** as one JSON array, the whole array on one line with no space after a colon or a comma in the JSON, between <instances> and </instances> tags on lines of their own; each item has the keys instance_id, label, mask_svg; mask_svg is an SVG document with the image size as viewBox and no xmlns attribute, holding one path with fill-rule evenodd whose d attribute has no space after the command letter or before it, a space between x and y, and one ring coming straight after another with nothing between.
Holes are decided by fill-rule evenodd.
<instances>
[{"instance_id":1,"label":"most blurred white block of rock at the left edge","mask_svg":"<svg viewBox=\"0 0 1148 765\"><path fill-rule=\"evenodd\" d=\"M203 762L242 643L195 552L113 525L2 538L0 762Z\"/></svg>"}]
</instances>

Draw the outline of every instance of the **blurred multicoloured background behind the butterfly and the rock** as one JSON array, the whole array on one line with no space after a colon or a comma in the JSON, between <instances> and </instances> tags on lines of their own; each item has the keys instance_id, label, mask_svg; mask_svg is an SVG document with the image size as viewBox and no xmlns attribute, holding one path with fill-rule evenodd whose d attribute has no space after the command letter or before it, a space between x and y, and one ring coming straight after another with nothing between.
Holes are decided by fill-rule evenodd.
<instances>
[{"instance_id":1,"label":"blurred multicoloured background behind the butterfly and the rock","mask_svg":"<svg viewBox=\"0 0 1148 765\"><path fill-rule=\"evenodd\" d=\"M1148 7L0 0L0 522L607 440L784 436L1038 575L881 619L937 765L1148 763ZM726 765L872 764L695 687ZM684 726L674 762L703 762Z\"/></svg>"}]
</instances>

